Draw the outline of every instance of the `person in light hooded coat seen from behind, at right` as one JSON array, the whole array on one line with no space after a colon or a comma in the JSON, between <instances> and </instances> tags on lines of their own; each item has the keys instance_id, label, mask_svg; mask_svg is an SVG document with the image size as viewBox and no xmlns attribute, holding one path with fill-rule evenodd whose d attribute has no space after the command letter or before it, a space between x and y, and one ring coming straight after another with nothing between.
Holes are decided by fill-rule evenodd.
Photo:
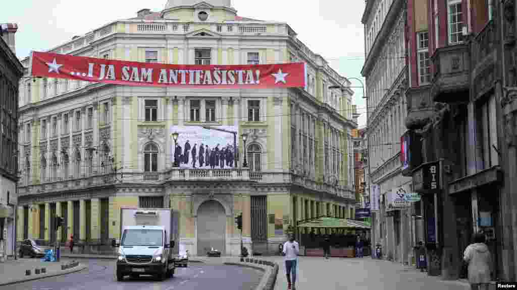
<instances>
[{"instance_id":1,"label":"person in light hooded coat seen from behind, at right","mask_svg":"<svg viewBox=\"0 0 517 290\"><path fill-rule=\"evenodd\" d=\"M490 283L492 256L485 244L485 235L476 233L474 244L468 245L463 260L468 263L468 283L472 290L488 290Z\"/></svg>"}]
</instances>

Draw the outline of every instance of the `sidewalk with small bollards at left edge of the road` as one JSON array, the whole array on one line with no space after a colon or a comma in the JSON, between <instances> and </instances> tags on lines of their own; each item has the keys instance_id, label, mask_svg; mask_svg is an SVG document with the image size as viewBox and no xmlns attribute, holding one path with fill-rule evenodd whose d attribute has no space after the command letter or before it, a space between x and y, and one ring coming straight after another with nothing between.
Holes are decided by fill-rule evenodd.
<instances>
[{"instance_id":1,"label":"sidewalk with small bollards at left edge of the road","mask_svg":"<svg viewBox=\"0 0 517 290\"><path fill-rule=\"evenodd\" d=\"M73 268L62 270L61 265L70 262L72 261L67 259L60 262L41 262L41 259L7 260L5 263L0 263L0 273L2 273L0 275L0 286L65 275L86 268L86 265L79 264ZM45 272L36 274L36 269L41 268L44 268ZM31 275L26 276L26 270L31 270Z\"/></svg>"}]
</instances>

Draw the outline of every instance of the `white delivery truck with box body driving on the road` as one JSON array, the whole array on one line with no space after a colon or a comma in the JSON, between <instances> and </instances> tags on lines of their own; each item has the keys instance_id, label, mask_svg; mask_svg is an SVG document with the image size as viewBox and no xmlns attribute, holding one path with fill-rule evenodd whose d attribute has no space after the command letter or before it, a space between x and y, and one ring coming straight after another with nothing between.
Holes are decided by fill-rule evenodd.
<instances>
[{"instance_id":1,"label":"white delivery truck with box body driving on the road","mask_svg":"<svg viewBox=\"0 0 517 290\"><path fill-rule=\"evenodd\" d=\"M120 208L120 240L112 241L118 248L117 281L127 275L174 276L173 224L170 208Z\"/></svg>"}]
</instances>

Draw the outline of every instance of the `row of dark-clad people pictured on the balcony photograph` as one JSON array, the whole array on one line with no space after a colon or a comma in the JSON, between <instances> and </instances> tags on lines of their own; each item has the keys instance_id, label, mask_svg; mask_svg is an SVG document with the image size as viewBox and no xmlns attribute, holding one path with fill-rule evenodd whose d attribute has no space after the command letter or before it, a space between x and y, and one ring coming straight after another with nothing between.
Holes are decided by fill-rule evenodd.
<instances>
[{"instance_id":1,"label":"row of dark-clad people pictured on the balcony photograph","mask_svg":"<svg viewBox=\"0 0 517 290\"><path fill-rule=\"evenodd\" d=\"M209 148L207 144L199 144L197 146L194 143L190 145L190 141L185 142L184 147L181 148L179 144L176 144L174 150L174 160L177 166L185 164L191 165L192 168L210 168L214 169L219 167L221 169L225 167L233 167L235 160L235 148L231 144L220 148L221 144L217 144L214 148Z\"/></svg>"}]
</instances>

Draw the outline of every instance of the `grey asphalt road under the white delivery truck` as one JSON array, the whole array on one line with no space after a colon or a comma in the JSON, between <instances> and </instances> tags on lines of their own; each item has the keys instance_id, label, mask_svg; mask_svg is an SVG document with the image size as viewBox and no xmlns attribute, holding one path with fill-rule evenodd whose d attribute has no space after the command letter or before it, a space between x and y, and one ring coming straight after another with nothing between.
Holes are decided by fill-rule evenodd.
<instances>
[{"instance_id":1,"label":"grey asphalt road under the white delivery truck","mask_svg":"<svg viewBox=\"0 0 517 290\"><path fill-rule=\"evenodd\" d=\"M263 272L230 265L191 263L188 268L176 268L173 278L157 281L151 277L117 282L114 261L79 260L88 268L77 273L3 286L2 290L194 290L254 289Z\"/></svg>"}]
</instances>

